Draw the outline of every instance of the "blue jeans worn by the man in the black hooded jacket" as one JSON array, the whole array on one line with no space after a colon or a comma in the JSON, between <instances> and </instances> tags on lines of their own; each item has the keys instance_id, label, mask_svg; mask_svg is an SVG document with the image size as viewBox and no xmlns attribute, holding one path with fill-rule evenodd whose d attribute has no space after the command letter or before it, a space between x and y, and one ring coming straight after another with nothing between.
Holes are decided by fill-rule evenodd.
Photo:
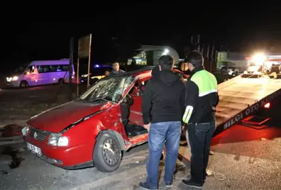
<instances>
[{"instance_id":1,"label":"blue jeans worn by the man in the black hooded jacket","mask_svg":"<svg viewBox=\"0 0 281 190\"><path fill-rule=\"evenodd\" d=\"M166 143L165 158L165 184L172 184L177 162L177 154L180 146L181 121L170 121L162 123L151 123L148 147L149 157L146 164L148 177L146 184L151 189L158 188L159 162L164 144Z\"/></svg>"}]
</instances>

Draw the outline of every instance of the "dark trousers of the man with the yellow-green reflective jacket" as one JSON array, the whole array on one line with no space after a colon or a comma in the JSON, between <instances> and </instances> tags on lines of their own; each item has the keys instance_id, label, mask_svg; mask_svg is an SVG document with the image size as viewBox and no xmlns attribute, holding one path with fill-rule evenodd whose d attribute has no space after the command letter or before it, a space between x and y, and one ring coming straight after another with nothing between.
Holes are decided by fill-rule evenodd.
<instances>
[{"instance_id":1,"label":"dark trousers of the man with the yellow-green reflective jacket","mask_svg":"<svg viewBox=\"0 0 281 190\"><path fill-rule=\"evenodd\" d=\"M198 184L206 179L206 167L209 162L211 137L216 128L215 118L209 123L189 123L187 127L188 138L191 147L192 157L191 177Z\"/></svg>"}]
</instances>

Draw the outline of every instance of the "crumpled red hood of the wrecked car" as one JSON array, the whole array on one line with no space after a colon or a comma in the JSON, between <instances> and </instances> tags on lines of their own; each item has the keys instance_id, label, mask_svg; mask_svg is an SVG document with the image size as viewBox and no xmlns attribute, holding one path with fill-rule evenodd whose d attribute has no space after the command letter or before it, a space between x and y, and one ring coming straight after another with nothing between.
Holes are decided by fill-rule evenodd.
<instances>
[{"instance_id":1,"label":"crumpled red hood of the wrecked car","mask_svg":"<svg viewBox=\"0 0 281 190\"><path fill-rule=\"evenodd\" d=\"M75 123L75 121L89 116L92 113L96 113L97 111L109 108L109 104L111 103L71 101L34 116L28 120L27 124L40 130L60 133L61 130Z\"/></svg>"}]
</instances>

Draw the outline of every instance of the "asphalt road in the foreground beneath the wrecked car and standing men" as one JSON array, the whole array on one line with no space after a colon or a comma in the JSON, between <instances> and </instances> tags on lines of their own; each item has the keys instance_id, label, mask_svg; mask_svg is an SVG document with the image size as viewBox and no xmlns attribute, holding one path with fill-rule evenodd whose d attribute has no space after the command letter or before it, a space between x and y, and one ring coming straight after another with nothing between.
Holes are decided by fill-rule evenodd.
<instances>
[{"instance_id":1,"label":"asphalt road in the foreground beneath the wrecked car and standing men","mask_svg":"<svg viewBox=\"0 0 281 190\"><path fill-rule=\"evenodd\" d=\"M207 178L204 189L281 189L280 136L281 128L257 130L242 125L216 136L211 146L215 153L209 161L215 175ZM0 189L138 189L145 179L147 144L126 153L121 167L112 173L95 168L60 169L22 149L24 144L13 147L22 150L17 157L24 160L11 169L11 155L4 154L11 148L0 147ZM189 164L179 160L173 189L185 189L180 181L188 173ZM160 188L165 189L162 179Z\"/></svg>"}]
</instances>

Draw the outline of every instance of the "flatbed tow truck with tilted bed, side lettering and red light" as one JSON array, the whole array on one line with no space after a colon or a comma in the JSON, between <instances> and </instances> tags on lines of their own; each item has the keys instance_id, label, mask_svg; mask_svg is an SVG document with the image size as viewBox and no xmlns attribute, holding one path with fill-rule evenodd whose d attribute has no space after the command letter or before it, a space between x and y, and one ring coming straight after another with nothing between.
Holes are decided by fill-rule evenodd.
<instances>
[{"instance_id":1,"label":"flatbed tow truck with tilted bed, side lettering and red light","mask_svg":"<svg viewBox=\"0 0 281 190\"><path fill-rule=\"evenodd\" d=\"M239 123L258 128L273 115L277 116L276 110L281 106L281 72L275 72L274 76L266 72L245 72L219 84L214 136ZM258 117L260 113L263 117ZM189 162L191 152L186 140L180 144L179 155Z\"/></svg>"}]
</instances>

